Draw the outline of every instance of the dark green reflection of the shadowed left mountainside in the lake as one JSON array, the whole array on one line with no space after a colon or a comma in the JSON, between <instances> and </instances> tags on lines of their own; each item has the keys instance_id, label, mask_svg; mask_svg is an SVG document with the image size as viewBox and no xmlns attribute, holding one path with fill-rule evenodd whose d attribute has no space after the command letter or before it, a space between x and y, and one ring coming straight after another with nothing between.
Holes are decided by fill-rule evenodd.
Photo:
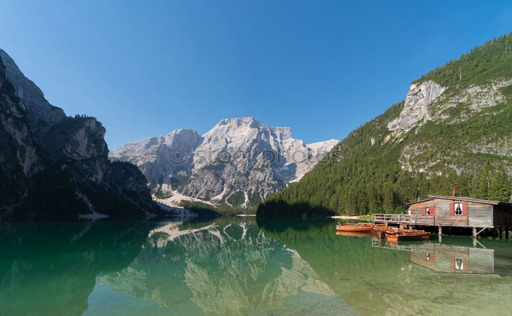
<instances>
[{"instance_id":1,"label":"dark green reflection of the shadowed left mountainside in the lake","mask_svg":"<svg viewBox=\"0 0 512 316\"><path fill-rule=\"evenodd\" d=\"M130 264L151 224L0 224L0 314L79 315L99 273Z\"/></svg>"}]
</instances>

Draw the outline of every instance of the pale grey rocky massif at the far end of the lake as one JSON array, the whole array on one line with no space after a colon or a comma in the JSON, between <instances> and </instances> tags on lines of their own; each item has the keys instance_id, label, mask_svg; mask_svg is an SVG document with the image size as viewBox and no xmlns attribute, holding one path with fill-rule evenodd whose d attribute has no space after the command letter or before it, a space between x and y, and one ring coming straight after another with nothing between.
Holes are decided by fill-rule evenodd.
<instances>
[{"instance_id":1,"label":"pale grey rocky massif at the far end of the lake","mask_svg":"<svg viewBox=\"0 0 512 316\"><path fill-rule=\"evenodd\" d=\"M109 157L136 164L155 197L250 207L299 180L337 143L306 144L289 127L242 117L222 120L203 136L178 129L127 143Z\"/></svg>"}]
</instances>

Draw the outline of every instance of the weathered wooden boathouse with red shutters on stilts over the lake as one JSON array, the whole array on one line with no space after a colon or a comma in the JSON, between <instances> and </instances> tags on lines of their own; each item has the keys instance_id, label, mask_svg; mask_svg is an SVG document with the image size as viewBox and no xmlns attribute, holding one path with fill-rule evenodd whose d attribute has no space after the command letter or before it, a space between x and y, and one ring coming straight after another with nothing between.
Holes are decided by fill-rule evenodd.
<instances>
[{"instance_id":1,"label":"weathered wooden boathouse with red shutters on stilts over the lake","mask_svg":"<svg viewBox=\"0 0 512 316\"><path fill-rule=\"evenodd\" d=\"M512 228L512 202L429 195L429 199L408 206L407 214L372 214L372 221L407 227L437 226L439 233L442 227L472 228L475 237L486 229L495 229L501 236Z\"/></svg>"}]
</instances>

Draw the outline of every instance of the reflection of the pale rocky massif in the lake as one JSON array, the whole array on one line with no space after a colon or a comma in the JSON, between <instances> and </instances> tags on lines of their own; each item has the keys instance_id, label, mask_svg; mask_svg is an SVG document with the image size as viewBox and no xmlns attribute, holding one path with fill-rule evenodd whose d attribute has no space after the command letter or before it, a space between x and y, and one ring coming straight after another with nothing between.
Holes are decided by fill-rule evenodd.
<instances>
[{"instance_id":1,"label":"reflection of the pale rocky massif in the lake","mask_svg":"<svg viewBox=\"0 0 512 316\"><path fill-rule=\"evenodd\" d=\"M162 225L129 266L96 284L162 307L192 301L206 314L275 313L301 291L316 300L332 297L331 308L344 308L306 261L253 219Z\"/></svg>"}]
</instances>

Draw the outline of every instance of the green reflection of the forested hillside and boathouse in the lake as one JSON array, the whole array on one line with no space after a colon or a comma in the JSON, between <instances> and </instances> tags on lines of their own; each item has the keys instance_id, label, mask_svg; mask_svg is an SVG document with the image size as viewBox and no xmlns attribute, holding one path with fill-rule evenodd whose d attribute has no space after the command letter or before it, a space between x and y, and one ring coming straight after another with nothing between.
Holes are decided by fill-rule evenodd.
<instances>
[{"instance_id":1,"label":"green reflection of the forested hillside and boathouse in the lake","mask_svg":"<svg viewBox=\"0 0 512 316\"><path fill-rule=\"evenodd\" d=\"M358 313L437 315L450 311L480 315L512 308L508 290L512 285L509 240L479 239L487 250L481 246L474 250L470 237L443 236L443 245L425 247L425 256L433 247L431 251L437 261L434 270L414 262L423 260L419 250L418 253L391 250L392 245L386 245L383 240L382 246L374 247L371 237L337 235L333 224L292 223L283 228L272 222L261 222L269 235L297 251L329 288ZM454 272L452 257L456 260ZM461 264L457 265L457 261ZM461 269L455 272L456 267ZM462 276L470 272L487 277L457 276L455 282L453 275L446 277L450 273ZM500 278L488 277L494 275ZM493 303L496 301L500 304Z\"/></svg>"}]
</instances>

